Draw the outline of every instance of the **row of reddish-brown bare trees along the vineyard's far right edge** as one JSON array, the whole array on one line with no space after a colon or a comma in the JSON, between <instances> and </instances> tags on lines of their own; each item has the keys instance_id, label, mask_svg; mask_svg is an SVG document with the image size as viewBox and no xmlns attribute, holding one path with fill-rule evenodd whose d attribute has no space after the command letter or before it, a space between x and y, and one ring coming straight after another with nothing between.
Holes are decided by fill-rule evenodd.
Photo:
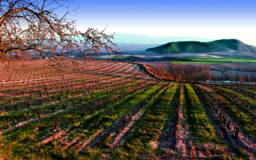
<instances>
[{"instance_id":1,"label":"row of reddish-brown bare trees along the vineyard's far right edge","mask_svg":"<svg viewBox=\"0 0 256 160\"><path fill-rule=\"evenodd\" d=\"M149 68L149 67L148 67ZM206 81L231 81L231 82L256 82L256 75L236 74L236 72L223 72L222 75L212 73L211 67L206 64L177 64L155 62L154 68L150 68L151 73L160 79L171 79L180 82L203 82Z\"/></svg>"}]
</instances>

